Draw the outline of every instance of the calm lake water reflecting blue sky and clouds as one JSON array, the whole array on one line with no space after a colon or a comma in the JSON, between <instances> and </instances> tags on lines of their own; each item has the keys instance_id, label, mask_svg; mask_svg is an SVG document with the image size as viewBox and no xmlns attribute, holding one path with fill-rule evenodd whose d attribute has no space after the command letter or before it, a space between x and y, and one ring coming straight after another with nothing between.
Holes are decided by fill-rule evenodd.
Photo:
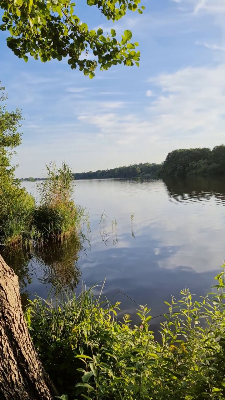
<instances>
[{"instance_id":1,"label":"calm lake water reflecting blue sky and clouds","mask_svg":"<svg viewBox=\"0 0 225 400\"><path fill-rule=\"evenodd\" d=\"M90 287L106 278L103 293L109 299L119 291L129 296L119 293L114 300L134 320L135 302L148 304L157 316L183 288L197 295L210 290L225 259L225 178L75 183L74 198L89 210L91 231L90 246L84 242L72 258L78 290L82 282ZM32 182L24 186L34 191ZM47 296L45 260L28 260L23 291ZM152 321L153 330L159 320Z\"/></svg>"}]
</instances>

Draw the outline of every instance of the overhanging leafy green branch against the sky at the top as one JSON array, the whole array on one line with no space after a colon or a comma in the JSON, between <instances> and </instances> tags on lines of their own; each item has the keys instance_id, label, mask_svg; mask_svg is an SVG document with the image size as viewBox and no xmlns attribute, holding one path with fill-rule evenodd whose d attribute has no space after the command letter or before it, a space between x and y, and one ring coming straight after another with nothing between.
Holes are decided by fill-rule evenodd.
<instances>
[{"instance_id":1,"label":"overhanging leafy green branch against the sky at the top","mask_svg":"<svg viewBox=\"0 0 225 400\"><path fill-rule=\"evenodd\" d=\"M96 6L112 22L125 16L127 10L142 14L144 6L140 2L87 0L89 6ZM4 10L0 29L10 32L8 47L25 61L28 61L27 54L43 62L67 57L72 69L78 66L90 78L98 64L102 70L122 63L139 66L138 43L131 43L130 30L125 30L120 41L114 29L106 36L101 28L88 30L87 24L74 14L75 6L69 0L0 0L0 8Z\"/></svg>"}]
</instances>

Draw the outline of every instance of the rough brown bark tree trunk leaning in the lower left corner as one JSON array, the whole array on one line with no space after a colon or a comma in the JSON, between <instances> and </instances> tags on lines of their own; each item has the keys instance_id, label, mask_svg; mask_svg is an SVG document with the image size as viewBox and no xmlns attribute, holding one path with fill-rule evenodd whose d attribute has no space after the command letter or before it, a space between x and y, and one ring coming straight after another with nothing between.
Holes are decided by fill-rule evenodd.
<instances>
[{"instance_id":1,"label":"rough brown bark tree trunk leaning in the lower left corner","mask_svg":"<svg viewBox=\"0 0 225 400\"><path fill-rule=\"evenodd\" d=\"M24 320L18 277L0 256L0 399L53 400L56 394Z\"/></svg>"}]
</instances>

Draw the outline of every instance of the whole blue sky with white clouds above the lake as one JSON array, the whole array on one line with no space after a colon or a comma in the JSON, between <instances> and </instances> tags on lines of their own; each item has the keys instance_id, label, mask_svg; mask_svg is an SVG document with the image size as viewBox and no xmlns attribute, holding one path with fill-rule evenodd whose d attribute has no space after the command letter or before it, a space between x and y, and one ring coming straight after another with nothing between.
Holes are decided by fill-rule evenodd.
<instances>
[{"instance_id":1,"label":"whole blue sky with white clouds above the lake","mask_svg":"<svg viewBox=\"0 0 225 400\"><path fill-rule=\"evenodd\" d=\"M161 162L175 148L225 142L225 0L142 0L143 15L116 24L77 1L90 29L125 29L140 67L116 66L90 80L66 60L19 60L0 34L8 108L25 118L17 176L66 161L74 172Z\"/></svg>"}]
</instances>

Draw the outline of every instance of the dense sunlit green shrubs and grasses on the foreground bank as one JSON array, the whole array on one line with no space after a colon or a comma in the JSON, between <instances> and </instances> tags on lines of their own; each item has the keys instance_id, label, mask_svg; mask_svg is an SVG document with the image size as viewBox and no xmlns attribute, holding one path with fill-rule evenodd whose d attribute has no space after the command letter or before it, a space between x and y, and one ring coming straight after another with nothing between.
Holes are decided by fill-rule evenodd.
<instances>
[{"instance_id":1,"label":"dense sunlit green shrubs and grasses on the foreground bank","mask_svg":"<svg viewBox=\"0 0 225 400\"><path fill-rule=\"evenodd\" d=\"M161 343L146 306L131 328L128 315L115 319L119 303L95 298L92 289L56 303L37 299L26 318L46 372L70 400L223 399L224 270L216 279L218 294L201 302L188 290L178 302L172 298Z\"/></svg>"}]
</instances>

